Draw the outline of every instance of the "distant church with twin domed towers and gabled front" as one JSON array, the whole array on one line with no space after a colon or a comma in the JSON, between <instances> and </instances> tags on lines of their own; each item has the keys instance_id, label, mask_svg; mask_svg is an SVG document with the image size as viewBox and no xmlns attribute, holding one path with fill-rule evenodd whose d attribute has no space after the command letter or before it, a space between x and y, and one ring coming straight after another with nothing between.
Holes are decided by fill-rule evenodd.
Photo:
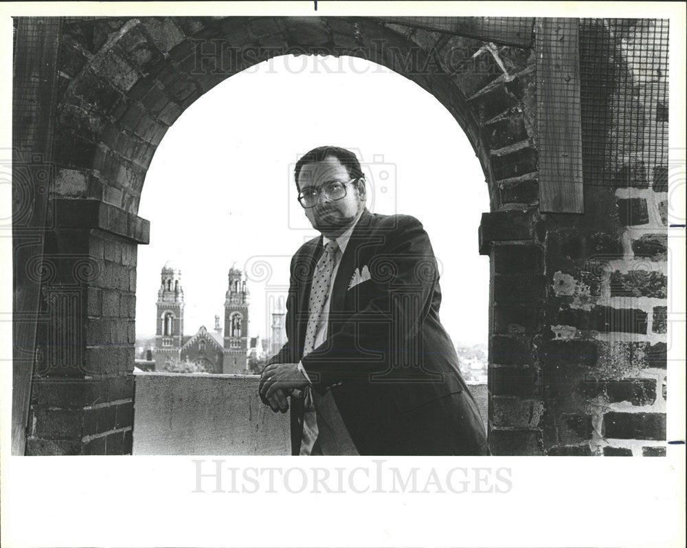
<instances>
[{"instance_id":1,"label":"distant church with twin domed towers and gabled front","mask_svg":"<svg viewBox=\"0 0 687 548\"><path fill-rule=\"evenodd\" d=\"M155 371L173 362L194 362L207 373L245 373L248 355L249 291L245 273L232 267L224 303L224 329L215 316L213 331L202 325L192 336L183 334L181 271L170 261L161 271L157 292Z\"/></svg>"}]
</instances>

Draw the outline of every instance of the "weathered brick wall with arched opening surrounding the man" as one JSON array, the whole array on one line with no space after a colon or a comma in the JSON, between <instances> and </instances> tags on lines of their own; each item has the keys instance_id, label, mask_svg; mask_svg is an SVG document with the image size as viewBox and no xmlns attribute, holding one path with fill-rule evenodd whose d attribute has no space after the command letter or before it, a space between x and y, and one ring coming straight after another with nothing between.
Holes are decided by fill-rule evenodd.
<instances>
[{"instance_id":1,"label":"weathered brick wall with arched opening surrounding the man","mask_svg":"<svg viewBox=\"0 0 687 548\"><path fill-rule=\"evenodd\" d=\"M488 38L473 39L465 37L480 35L471 23L465 32L432 32L409 19L423 18L65 19L44 41L57 68L41 99L54 138L32 132L30 116L20 132L29 151L52 152L54 185L38 223L47 228L41 260L33 261L30 239L15 243L15 265L26 267L20 282L41 289L27 453L131 452L136 256L137 245L148 243L137 210L150 160L203 93L295 53L363 57L407 76L451 112L482 164L491 201L479 249L491 259L493 452L660 454L667 109L652 105L657 94L664 94L658 104L666 101L667 83L662 69L646 84L632 59L649 51L658 23L580 27L585 209L549 215L539 210L541 52L533 21L510 34L496 25ZM667 41L653 48L664 54ZM20 85L30 87L36 80L25 74ZM626 88L632 102L624 101ZM15 105L15 115L24 112L30 107ZM564 178L554 174L554 182ZM37 204L45 186L36 190ZM21 360L32 363L33 350L15 349L15 370ZM13 419L16 410L13 402ZM19 417L13 440L21 431Z\"/></svg>"}]
</instances>

